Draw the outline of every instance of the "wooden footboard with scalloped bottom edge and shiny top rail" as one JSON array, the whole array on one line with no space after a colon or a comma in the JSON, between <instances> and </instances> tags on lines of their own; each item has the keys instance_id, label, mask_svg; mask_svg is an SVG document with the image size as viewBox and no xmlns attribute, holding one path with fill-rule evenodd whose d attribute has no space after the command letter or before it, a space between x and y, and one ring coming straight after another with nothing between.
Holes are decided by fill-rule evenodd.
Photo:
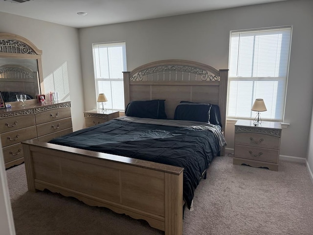
<instances>
[{"instance_id":1,"label":"wooden footboard with scalloped bottom edge and shiny top rail","mask_svg":"<svg viewBox=\"0 0 313 235\"><path fill-rule=\"evenodd\" d=\"M183 168L38 141L22 147L29 191L46 188L182 235Z\"/></svg>"}]
</instances>

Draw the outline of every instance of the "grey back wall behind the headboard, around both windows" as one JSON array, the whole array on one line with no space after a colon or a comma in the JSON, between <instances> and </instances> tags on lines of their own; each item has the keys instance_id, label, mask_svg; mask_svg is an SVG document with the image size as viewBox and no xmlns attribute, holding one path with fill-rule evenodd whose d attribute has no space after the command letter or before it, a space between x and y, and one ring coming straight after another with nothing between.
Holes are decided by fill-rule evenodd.
<instances>
[{"instance_id":1,"label":"grey back wall behind the headboard, around both windows","mask_svg":"<svg viewBox=\"0 0 313 235\"><path fill-rule=\"evenodd\" d=\"M228 68L229 31L293 25L282 155L305 158L313 101L313 1L270 4L187 14L175 17L102 25L79 30L85 107L96 107L91 44L126 41L127 69L161 59L186 59ZM88 94L88 95L86 95ZM234 126L226 141L233 148Z\"/></svg>"}]
</instances>

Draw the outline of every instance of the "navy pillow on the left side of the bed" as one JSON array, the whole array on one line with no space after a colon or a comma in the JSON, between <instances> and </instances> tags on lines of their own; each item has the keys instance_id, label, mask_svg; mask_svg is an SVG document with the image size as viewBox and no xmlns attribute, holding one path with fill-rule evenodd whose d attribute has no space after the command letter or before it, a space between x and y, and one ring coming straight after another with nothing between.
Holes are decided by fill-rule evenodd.
<instances>
[{"instance_id":1,"label":"navy pillow on the left side of the bed","mask_svg":"<svg viewBox=\"0 0 313 235\"><path fill-rule=\"evenodd\" d=\"M137 118L166 119L165 99L134 100L126 109L125 115Z\"/></svg>"}]
</instances>

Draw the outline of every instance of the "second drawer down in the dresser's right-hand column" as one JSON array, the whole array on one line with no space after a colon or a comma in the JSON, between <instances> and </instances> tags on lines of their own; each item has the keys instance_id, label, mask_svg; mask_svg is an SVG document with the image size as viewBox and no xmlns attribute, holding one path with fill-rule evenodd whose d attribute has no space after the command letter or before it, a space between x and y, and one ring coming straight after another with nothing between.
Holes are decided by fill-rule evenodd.
<instances>
[{"instance_id":1,"label":"second drawer down in the dresser's right-hand column","mask_svg":"<svg viewBox=\"0 0 313 235\"><path fill-rule=\"evenodd\" d=\"M72 127L72 118L64 118L37 125L37 136L39 137L65 130Z\"/></svg>"}]
</instances>

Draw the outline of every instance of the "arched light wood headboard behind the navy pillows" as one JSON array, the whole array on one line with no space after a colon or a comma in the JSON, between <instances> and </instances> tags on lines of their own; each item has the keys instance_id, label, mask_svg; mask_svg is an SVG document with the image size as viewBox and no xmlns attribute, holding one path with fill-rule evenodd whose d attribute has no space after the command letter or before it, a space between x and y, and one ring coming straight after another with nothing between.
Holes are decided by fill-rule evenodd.
<instances>
[{"instance_id":1,"label":"arched light wood headboard behind the navy pillows","mask_svg":"<svg viewBox=\"0 0 313 235\"><path fill-rule=\"evenodd\" d=\"M123 73L125 107L133 100L166 99L165 112L174 118L181 100L217 104L225 130L228 70L188 60L160 60Z\"/></svg>"}]
</instances>

